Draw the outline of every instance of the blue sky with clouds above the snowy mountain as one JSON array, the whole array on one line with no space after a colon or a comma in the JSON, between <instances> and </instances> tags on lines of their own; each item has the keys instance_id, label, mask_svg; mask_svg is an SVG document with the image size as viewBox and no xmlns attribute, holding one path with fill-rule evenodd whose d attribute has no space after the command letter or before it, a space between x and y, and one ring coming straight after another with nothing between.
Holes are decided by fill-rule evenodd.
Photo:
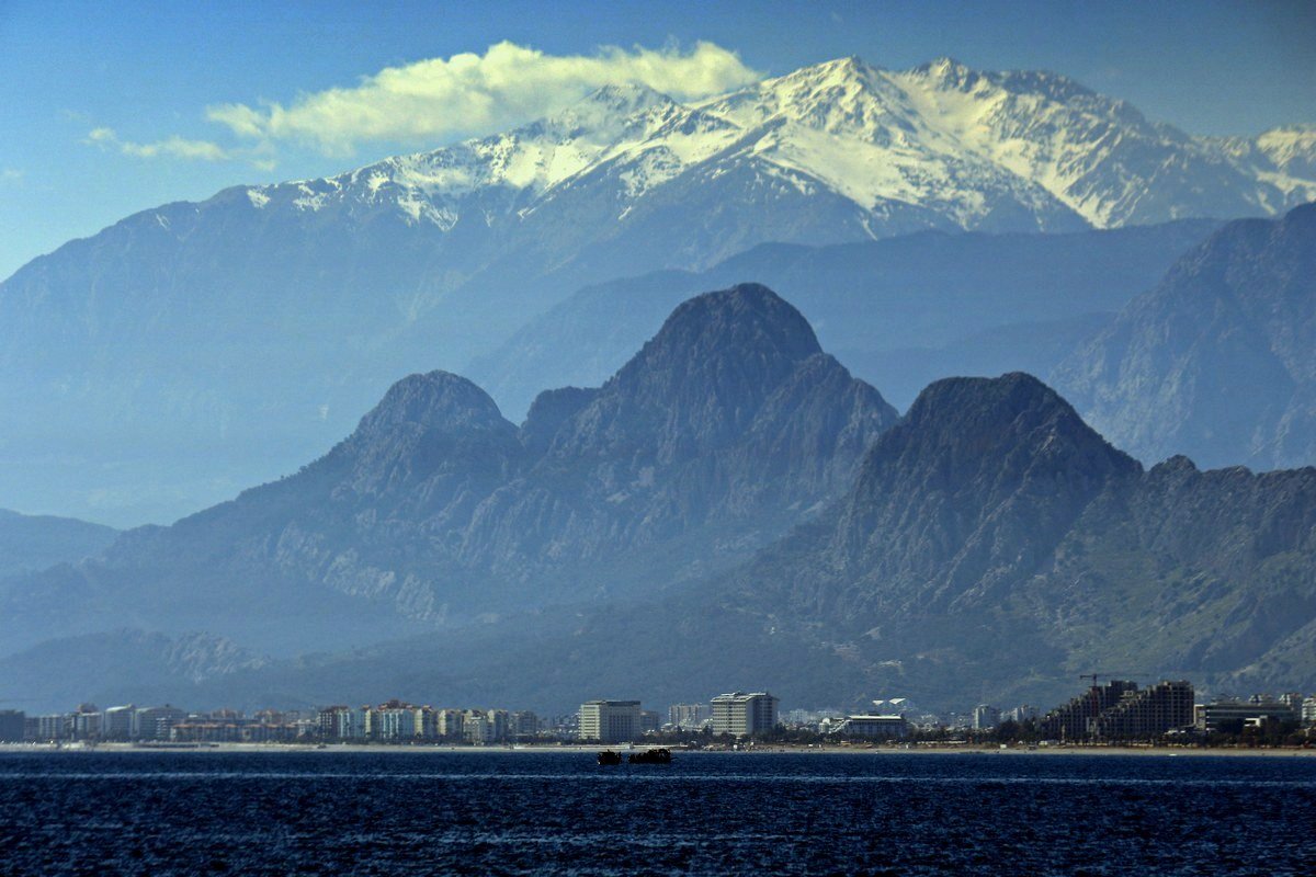
<instances>
[{"instance_id":1,"label":"blue sky with clouds above the snowy mountain","mask_svg":"<svg viewBox=\"0 0 1316 877\"><path fill-rule=\"evenodd\" d=\"M453 93L465 80L449 59L462 54L482 82L511 71L483 95L492 104ZM132 212L486 133L609 71L712 88L842 55L1054 70L1198 134L1316 124L1307 0L0 0L0 277ZM388 103L370 91L405 80L397 97L417 78L438 92ZM353 114L362 108L384 117Z\"/></svg>"}]
</instances>

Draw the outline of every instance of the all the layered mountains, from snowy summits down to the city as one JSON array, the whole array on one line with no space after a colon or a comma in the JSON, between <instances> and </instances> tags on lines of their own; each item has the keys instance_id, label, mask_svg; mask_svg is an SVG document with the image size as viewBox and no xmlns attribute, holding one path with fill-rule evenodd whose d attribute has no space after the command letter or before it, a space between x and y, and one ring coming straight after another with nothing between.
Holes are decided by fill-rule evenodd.
<instances>
[{"instance_id":1,"label":"all the layered mountains, from snowy summits down to the city","mask_svg":"<svg viewBox=\"0 0 1316 877\"><path fill-rule=\"evenodd\" d=\"M0 514L0 699L1311 688L1313 167L841 59L129 217L0 284L0 502L204 510Z\"/></svg>"}]
</instances>

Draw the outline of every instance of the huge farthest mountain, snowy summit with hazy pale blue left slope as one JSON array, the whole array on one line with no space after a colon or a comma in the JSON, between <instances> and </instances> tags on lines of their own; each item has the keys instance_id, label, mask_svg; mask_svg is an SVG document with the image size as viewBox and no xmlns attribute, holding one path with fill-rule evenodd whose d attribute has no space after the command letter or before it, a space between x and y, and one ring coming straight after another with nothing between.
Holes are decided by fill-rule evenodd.
<instances>
[{"instance_id":1,"label":"huge farthest mountain, snowy summit with hazy pale blue left slope","mask_svg":"<svg viewBox=\"0 0 1316 877\"><path fill-rule=\"evenodd\" d=\"M1312 150L1296 128L1190 137L1053 74L841 59L697 105L609 87L505 134L164 205L0 285L0 412L24 425L4 501L166 519L584 284L767 242L1274 214L1316 195Z\"/></svg>"}]
</instances>

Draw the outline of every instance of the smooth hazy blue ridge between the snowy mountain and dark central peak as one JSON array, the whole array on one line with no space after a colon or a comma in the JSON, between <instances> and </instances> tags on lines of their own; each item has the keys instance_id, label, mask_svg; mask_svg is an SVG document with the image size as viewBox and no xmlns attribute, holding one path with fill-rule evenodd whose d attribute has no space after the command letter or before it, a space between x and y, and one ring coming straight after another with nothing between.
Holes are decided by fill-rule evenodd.
<instances>
[{"instance_id":1,"label":"smooth hazy blue ridge between the snowy mountain and dark central peak","mask_svg":"<svg viewBox=\"0 0 1316 877\"><path fill-rule=\"evenodd\" d=\"M467 372L504 410L521 412L544 381L604 380L683 298L753 279L795 304L828 350L905 408L949 375L1046 375L1220 225L762 245L705 271L580 289Z\"/></svg>"}]
</instances>

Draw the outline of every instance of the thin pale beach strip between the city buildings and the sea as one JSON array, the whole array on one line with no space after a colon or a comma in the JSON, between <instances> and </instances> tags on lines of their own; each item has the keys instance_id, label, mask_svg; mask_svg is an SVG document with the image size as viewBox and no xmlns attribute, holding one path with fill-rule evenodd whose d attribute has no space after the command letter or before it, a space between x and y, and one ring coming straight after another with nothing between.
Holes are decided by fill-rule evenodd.
<instances>
[{"instance_id":1,"label":"thin pale beach strip between the city buildings and the sea","mask_svg":"<svg viewBox=\"0 0 1316 877\"><path fill-rule=\"evenodd\" d=\"M647 748L657 748L661 744L638 744L629 751L637 752ZM199 743L199 744L136 744L136 743L97 743L93 746L50 743L0 743L3 753L66 753L88 755L96 752L138 752L138 753L307 753L307 755L334 755L334 753L378 753L378 755L592 755L600 749L609 748L597 744L547 744L547 746L432 746L432 744L379 744L379 743L330 743L324 747L312 743ZM904 747L866 747L866 746L757 746L741 749L682 749L672 747L678 755L732 755L732 756L774 756L774 755L916 755L916 756L945 756L945 755L996 755L996 756L1134 756L1134 757L1316 757L1316 748L1205 748L1205 747L1140 747L1140 746L1048 746L1048 747L987 747L987 746L912 746ZM622 749L624 752L626 749Z\"/></svg>"}]
</instances>

